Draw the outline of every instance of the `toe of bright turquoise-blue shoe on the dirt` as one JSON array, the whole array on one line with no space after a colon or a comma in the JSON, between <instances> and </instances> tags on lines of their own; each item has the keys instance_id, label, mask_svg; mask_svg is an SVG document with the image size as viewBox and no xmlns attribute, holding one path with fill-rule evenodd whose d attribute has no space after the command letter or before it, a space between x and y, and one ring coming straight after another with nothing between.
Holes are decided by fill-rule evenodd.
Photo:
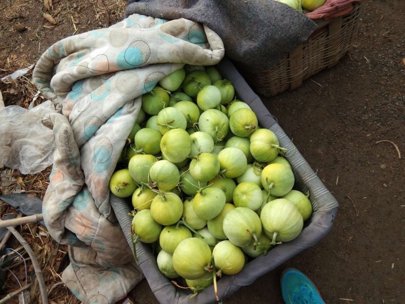
<instances>
[{"instance_id":1,"label":"toe of bright turquoise-blue shoe on the dirt","mask_svg":"<svg viewBox=\"0 0 405 304\"><path fill-rule=\"evenodd\" d=\"M286 304L325 304L315 284L294 268L282 273L281 293Z\"/></svg>"}]
</instances>

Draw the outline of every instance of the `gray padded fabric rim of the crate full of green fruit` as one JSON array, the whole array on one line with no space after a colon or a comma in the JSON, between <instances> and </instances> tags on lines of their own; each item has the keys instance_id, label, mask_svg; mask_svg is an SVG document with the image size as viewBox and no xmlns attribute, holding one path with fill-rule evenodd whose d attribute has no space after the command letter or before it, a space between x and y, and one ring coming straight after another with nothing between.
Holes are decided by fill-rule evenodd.
<instances>
[{"instance_id":1,"label":"gray padded fabric rim of the crate full of green fruit","mask_svg":"<svg viewBox=\"0 0 405 304\"><path fill-rule=\"evenodd\" d=\"M273 131L279 139L280 145L288 149L287 155L296 178L296 186L300 191L310 193L310 201L313 207L313 214L306 222L301 234L295 240L276 246L266 256L259 256L247 263L236 275L224 275L218 280L218 295L226 298L242 286L252 284L260 276L275 269L280 264L297 255L302 250L312 247L319 240L325 237L331 230L336 217L338 202L316 176L308 163L294 147L293 143L270 115L261 99L252 91L246 81L241 77L232 62L227 58L221 60L217 65L224 79L231 81L238 97L249 104L255 111L259 124L262 128ZM118 222L123 229L130 248L131 241L131 211L129 204L124 200L110 194L111 206L114 209ZM191 292L177 288L157 268L156 258L150 246L138 243L136 247L137 263L148 281L150 288L157 300L162 304L172 303L195 303L206 304L216 302L213 286L190 298Z\"/></svg>"}]
</instances>

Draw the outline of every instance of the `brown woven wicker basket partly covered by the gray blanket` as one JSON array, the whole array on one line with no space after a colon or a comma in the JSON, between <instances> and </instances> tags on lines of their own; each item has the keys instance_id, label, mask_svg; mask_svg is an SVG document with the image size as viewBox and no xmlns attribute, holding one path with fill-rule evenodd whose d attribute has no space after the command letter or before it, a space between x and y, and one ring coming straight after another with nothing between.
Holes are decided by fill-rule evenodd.
<instances>
[{"instance_id":1,"label":"brown woven wicker basket partly covered by the gray blanket","mask_svg":"<svg viewBox=\"0 0 405 304\"><path fill-rule=\"evenodd\" d=\"M361 11L362 5L355 3L346 15L315 20L318 28L307 41L270 69L249 72L242 68L245 78L264 97L300 87L304 80L334 66L347 53L355 40Z\"/></svg>"}]
</instances>

